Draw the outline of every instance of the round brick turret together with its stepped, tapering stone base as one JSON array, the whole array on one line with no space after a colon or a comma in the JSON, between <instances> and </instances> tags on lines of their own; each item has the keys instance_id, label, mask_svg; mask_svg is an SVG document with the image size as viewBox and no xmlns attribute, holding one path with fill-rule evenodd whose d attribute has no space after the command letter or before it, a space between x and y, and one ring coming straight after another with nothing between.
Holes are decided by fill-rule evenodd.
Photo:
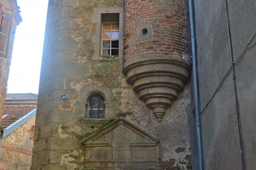
<instances>
[{"instance_id":1,"label":"round brick turret together with its stepped, tapering stone base","mask_svg":"<svg viewBox=\"0 0 256 170\"><path fill-rule=\"evenodd\" d=\"M186 0L125 0L124 70L158 122L189 80Z\"/></svg>"}]
</instances>

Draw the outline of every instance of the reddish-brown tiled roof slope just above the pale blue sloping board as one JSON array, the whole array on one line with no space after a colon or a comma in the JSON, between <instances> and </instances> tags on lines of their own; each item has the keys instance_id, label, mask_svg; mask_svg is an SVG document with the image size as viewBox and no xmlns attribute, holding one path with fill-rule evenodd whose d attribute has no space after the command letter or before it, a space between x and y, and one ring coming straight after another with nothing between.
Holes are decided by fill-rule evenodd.
<instances>
[{"instance_id":1,"label":"reddish-brown tiled roof slope just above the pale blue sloping board","mask_svg":"<svg viewBox=\"0 0 256 170\"><path fill-rule=\"evenodd\" d=\"M34 110L36 105L14 105L4 106L4 114L2 120L2 127L6 128L21 119L23 116Z\"/></svg>"}]
</instances>

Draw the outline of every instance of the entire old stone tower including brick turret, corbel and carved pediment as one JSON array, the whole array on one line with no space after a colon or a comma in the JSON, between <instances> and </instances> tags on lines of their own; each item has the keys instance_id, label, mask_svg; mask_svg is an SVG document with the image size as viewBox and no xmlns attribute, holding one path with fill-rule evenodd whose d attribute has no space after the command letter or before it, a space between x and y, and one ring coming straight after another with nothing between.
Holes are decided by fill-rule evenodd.
<instances>
[{"instance_id":1,"label":"entire old stone tower including brick turret, corbel and carved pediment","mask_svg":"<svg viewBox=\"0 0 256 170\"><path fill-rule=\"evenodd\" d=\"M188 37L185 0L49 0L31 170L193 169Z\"/></svg>"}]
</instances>

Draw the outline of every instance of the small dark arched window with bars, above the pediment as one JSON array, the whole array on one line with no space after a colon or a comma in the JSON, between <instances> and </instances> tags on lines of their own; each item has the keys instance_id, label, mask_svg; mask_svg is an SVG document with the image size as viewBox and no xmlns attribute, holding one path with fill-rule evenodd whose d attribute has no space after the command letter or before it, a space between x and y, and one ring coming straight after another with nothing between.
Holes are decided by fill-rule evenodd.
<instances>
[{"instance_id":1,"label":"small dark arched window with bars, above the pediment","mask_svg":"<svg viewBox=\"0 0 256 170\"><path fill-rule=\"evenodd\" d=\"M88 104L88 118L90 119L104 119L105 118L105 99L98 93L93 92L87 98Z\"/></svg>"}]
</instances>

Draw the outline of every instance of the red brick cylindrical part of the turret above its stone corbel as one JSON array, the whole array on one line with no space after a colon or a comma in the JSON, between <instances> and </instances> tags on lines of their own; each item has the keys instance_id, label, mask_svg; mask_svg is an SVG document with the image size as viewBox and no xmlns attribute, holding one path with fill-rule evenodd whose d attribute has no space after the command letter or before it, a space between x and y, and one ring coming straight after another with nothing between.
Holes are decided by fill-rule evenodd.
<instances>
[{"instance_id":1,"label":"red brick cylindrical part of the turret above its stone corbel","mask_svg":"<svg viewBox=\"0 0 256 170\"><path fill-rule=\"evenodd\" d=\"M186 0L126 0L124 62L149 57L182 59L190 53ZM150 24L152 37L139 38L137 27Z\"/></svg>"}]
</instances>

